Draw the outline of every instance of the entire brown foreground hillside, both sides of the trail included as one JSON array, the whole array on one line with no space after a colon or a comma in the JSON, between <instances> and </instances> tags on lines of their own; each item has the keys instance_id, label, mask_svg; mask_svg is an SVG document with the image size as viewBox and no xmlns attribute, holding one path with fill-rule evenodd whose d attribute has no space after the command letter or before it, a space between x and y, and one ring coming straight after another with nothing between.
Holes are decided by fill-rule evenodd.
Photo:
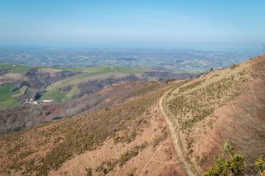
<instances>
[{"instance_id":1,"label":"entire brown foreground hillside, both sides of the trail included","mask_svg":"<svg viewBox=\"0 0 265 176\"><path fill-rule=\"evenodd\" d=\"M264 67L257 56L197 79L118 83L20 106L12 118L1 111L4 130L32 128L0 136L0 175L202 175L226 141L251 174L265 157Z\"/></svg>"}]
</instances>

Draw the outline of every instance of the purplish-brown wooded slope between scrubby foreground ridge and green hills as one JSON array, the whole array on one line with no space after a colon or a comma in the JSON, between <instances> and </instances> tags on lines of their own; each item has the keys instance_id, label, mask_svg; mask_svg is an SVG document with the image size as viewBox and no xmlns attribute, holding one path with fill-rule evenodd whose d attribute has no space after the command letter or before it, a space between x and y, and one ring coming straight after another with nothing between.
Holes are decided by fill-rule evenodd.
<instances>
[{"instance_id":1,"label":"purplish-brown wooded slope between scrubby foreground ridge and green hills","mask_svg":"<svg viewBox=\"0 0 265 176\"><path fill-rule=\"evenodd\" d=\"M126 102L156 89L156 83L135 81L109 86L98 93L87 95L70 102L48 105L22 105L0 112L0 134L20 131L43 122L70 118L79 113L105 109Z\"/></svg>"}]
</instances>

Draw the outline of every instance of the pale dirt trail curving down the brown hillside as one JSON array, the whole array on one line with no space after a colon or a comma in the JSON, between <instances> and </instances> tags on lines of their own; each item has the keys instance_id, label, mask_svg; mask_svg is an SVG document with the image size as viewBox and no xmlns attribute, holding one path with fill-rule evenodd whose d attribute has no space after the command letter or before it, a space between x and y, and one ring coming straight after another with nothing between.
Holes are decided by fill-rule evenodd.
<instances>
[{"instance_id":1,"label":"pale dirt trail curving down the brown hillside","mask_svg":"<svg viewBox=\"0 0 265 176\"><path fill-rule=\"evenodd\" d=\"M172 88L174 89L174 88ZM172 89L168 90L167 93L169 93ZM162 109L162 100L165 98L165 96L167 95L167 93L165 93L159 100L159 111L161 113L161 115L165 118L167 125L169 127L169 132L170 132L170 138L172 140L173 143L173 147L174 150L176 152L176 158L178 160L179 165L181 166L181 168L183 169L183 171L188 175L188 176L193 176L195 174L192 173L192 171L190 170L190 168L188 167L188 164L185 163L185 160L183 158L182 152L181 152L181 148L178 145L178 137L176 135L176 131L174 130L173 124L172 122L170 122L169 118L167 117L167 114L165 113L165 111Z\"/></svg>"}]
</instances>

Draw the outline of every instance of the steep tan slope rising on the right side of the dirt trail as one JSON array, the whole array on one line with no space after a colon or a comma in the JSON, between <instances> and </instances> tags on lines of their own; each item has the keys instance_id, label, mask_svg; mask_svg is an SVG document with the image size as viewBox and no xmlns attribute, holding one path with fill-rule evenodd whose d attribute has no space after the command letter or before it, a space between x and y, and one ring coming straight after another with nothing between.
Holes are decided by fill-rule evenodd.
<instances>
[{"instance_id":1,"label":"steep tan slope rising on the right side of the dirt trail","mask_svg":"<svg viewBox=\"0 0 265 176\"><path fill-rule=\"evenodd\" d=\"M265 56L257 56L175 86L162 99L179 157L193 173L212 166L225 141L245 156L246 174L254 159L265 157L264 70Z\"/></svg>"}]
</instances>

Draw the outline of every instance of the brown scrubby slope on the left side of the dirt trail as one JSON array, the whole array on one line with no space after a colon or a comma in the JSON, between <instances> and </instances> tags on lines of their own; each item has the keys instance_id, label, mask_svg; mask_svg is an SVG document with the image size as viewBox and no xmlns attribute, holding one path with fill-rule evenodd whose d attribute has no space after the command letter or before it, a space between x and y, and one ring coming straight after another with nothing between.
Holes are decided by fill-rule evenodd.
<instances>
[{"instance_id":1,"label":"brown scrubby slope on the left side of the dirt trail","mask_svg":"<svg viewBox=\"0 0 265 176\"><path fill-rule=\"evenodd\" d=\"M121 104L2 136L1 175L185 175L158 111L175 83L143 85Z\"/></svg>"}]
</instances>

